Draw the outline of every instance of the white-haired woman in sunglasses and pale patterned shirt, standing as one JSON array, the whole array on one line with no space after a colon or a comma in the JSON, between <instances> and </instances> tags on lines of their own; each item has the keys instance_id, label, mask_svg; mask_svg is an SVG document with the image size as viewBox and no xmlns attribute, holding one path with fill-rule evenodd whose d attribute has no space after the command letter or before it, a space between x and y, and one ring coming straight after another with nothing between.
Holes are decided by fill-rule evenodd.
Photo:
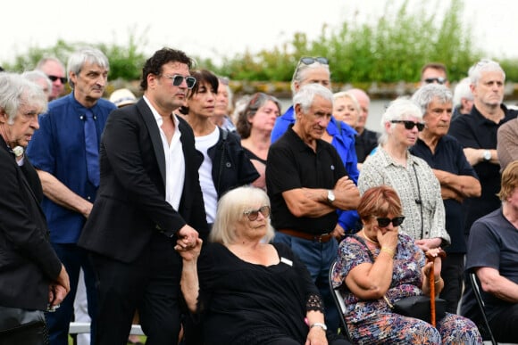
<instances>
[{"instance_id":1,"label":"white-haired woman in sunglasses and pale patterned shirt, standing","mask_svg":"<svg viewBox=\"0 0 518 345\"><path fill-rule=\"evenodd\" d=\"M392 186L403 203L401 230L423 251L446 246L450 237L439 180L425 160L408 151L424 128L421 108L409 99L398 98L383 114L381 127L380 147L363 163L360 193L378 185Z\"/></svg>"}]
</instances>

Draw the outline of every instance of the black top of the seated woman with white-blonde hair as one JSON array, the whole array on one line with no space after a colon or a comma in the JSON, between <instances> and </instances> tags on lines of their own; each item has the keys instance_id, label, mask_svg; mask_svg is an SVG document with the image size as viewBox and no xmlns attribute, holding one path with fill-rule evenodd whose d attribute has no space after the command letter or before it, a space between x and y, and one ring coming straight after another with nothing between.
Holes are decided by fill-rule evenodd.
<instances>
[{"instance_id":1,"label":"black top of the seated woman with white-blonde hair","mask_svg":"<svg viewBox=\"0 0 518 345\"><path fill-rule=\"evenodd\" d=\"M320 296L304 263L282 243L272 243L279 264L265 267L209 243L198 259L205 344L263 344L275 337L305 343L306 303ZM322 307L322 305L321 305Z\"/></svg>"}]
</instances>

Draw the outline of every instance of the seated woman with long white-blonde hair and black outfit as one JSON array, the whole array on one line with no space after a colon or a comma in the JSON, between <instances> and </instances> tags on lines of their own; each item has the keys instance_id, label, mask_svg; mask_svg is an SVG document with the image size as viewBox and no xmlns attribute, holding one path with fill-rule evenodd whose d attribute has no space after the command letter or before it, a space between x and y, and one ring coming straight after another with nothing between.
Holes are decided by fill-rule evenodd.
<instances>
[{"instance_id":1,"label":"seated woman with long white-blonde hair and black outfit","mask_svg":"<svg viewBox=\"0 0 518 345\"><path fill-rule=\"evenodd\" d=\"M269 217L262 189L238 187L221 197L204 251L201 240L194 248L178 241L181 290L193 318L204 320L205 344L328 343L318 289L287 246L268 243Z\"/></svg>"}]
</instances>

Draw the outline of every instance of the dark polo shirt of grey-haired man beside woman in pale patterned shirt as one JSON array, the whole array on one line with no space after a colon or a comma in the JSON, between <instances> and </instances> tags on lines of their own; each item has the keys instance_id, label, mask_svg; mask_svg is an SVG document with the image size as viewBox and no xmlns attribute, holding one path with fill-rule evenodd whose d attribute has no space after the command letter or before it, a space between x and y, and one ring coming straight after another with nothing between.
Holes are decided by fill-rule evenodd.
<instances>
[{"instance_id":1,"label":"dark polo shirt of grey-haired man beside woman in pale patterned shirt","mask_svg":"<svg viewBox=\"0 0 518 345\"><path fill-rule=\"evenodd\" d=\"M417 157L426 160L431 168L444 170L455 175L477 177L463 152L463 147L453 136L443 136L439 139L435 152L421 140L410 149ZM463 204L455 199L443 200L446 211L446 229L450 235L451 244L445 248L450 253L465 253L466 242L464 239L464 211Z\"/></svg>"}]
</instances>

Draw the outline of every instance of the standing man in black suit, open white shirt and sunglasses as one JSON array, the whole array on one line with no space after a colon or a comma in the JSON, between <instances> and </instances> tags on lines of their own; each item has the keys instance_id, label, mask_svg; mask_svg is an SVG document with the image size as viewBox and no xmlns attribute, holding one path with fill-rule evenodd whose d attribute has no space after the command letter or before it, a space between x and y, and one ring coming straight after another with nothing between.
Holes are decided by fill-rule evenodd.
<instances>
[{"instance_id":1,"label":"standing man in black suit, open white shirt and sunglasses","mask_svg":"<svg viewBox=\"0 0 518 345\"><path fill-rule=\"evenodd\" d=\"M192 129L173 111L196 79L192 61L163 48L142 70L144 96L113 111L100 146L101 184L79 238L98 279L97 345L124 344L138 308L147 344L176 344L180 255L207 231ZM197 231L196 231L197 230Z\"/></svg>"}]
</instances>

